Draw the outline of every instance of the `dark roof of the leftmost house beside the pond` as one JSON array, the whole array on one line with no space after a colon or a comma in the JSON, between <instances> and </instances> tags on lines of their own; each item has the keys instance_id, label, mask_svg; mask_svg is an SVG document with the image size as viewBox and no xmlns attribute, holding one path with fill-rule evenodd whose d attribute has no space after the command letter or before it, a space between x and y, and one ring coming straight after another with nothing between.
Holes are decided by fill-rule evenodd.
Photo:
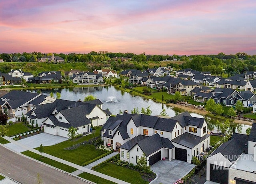
<instances>
[{"instance_id":1,"label":"dark roof of the leftmost house beside the pond","mask_svg":"<svg viewBox=\"0 0 256 184\"><path fill-rule=\"evenodd\" d=\"M9 105L12 107L12 109L19 108L21 105L27 103L28 101L32 100L36 96L38 96L38 93L28 93L24 91L10 91L6 95L2 96L3 99L10 99L10 101L7 101ZM0 104L3 105L4 101L0 101Z\"/></svg>"}]
</instances>

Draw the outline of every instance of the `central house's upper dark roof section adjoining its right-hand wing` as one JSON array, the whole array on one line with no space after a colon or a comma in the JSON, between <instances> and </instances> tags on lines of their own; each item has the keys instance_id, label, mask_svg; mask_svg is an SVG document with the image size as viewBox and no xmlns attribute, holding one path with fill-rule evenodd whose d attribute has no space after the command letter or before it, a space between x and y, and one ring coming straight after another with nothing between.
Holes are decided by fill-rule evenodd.
<instances>
[{"instance_id":1,"label":"central house's upper dark roof section adjoining its right-hand wing","mask_svg":"<svg viewBox=\"0 0 256 184\"><path fill-rule=\"evenodd\" d=\"M156 125L154 126L154 129L172 132L176 123L177 120L175 119L158 118L158 120L156 121Z\"/></svg>"}]
</instances>

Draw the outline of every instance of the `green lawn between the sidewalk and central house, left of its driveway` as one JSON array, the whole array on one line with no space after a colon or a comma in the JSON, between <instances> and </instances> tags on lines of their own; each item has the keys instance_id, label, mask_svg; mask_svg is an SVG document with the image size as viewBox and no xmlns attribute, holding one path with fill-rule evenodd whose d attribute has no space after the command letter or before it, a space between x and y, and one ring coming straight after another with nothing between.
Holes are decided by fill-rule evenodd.
<instances>
[{"instance_id":1,"label":"green lawn between the sidewalk and central house, left of its driveway","mask_svg":"<svg viewBox=\"0 0 256 184\"><path fill-rule=\"evenodd\" d=\"M101 172L108 176L124 180L132 184L148 184L149 182L144 181L140 176L140 173L136 170L124 168L116 164L106 163L95 169L97 172Z\"/></svg>"}]
</instances>

